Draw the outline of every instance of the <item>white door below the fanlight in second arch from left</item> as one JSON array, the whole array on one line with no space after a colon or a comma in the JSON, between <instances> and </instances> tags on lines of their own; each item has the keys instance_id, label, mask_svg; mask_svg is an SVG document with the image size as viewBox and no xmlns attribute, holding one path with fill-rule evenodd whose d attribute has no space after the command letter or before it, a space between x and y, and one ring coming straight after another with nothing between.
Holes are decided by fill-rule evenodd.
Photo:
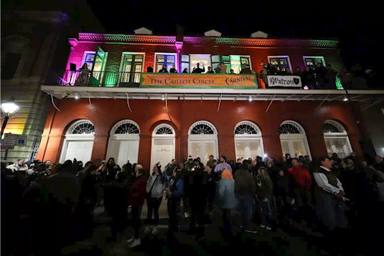
<instances>
[{"instance_id":1,"label":"white door below the fanlight in second arch from left","mask_svg":"<svg viewBox=\"0 0 384 256\"><path fill-rule=\"evenodd\" d=\"M137 163L139 157L139 140L113 140L108 149L107 159L113 157L120 167L129 163Z\"/></svg>"}]
</instances>

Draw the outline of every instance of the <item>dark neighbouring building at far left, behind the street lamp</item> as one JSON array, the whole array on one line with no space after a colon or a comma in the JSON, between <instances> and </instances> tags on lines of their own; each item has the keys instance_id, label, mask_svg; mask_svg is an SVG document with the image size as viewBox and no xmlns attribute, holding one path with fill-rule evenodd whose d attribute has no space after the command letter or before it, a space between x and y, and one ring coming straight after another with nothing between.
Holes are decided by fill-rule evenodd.
<instances>
[{"instance_id":1,"label":"dark neighbouring building at far left, behind the street lamp","mask_svg":"<svg viewBox=\"0 0 384 256\"><path fill-rule=\"evenodd\" d=\"M5 133L28 135L26 146L9 150L7 160L34 159L51 101L40 85L48 72L64 69L61 62L69 53L65 42L69 19L60 12L1 14L0 23L5 30L0 38L0 100L15 97L21 106L8 120ZM4 150L0 157L3 159Z\"/></svg>"}]
</instances>

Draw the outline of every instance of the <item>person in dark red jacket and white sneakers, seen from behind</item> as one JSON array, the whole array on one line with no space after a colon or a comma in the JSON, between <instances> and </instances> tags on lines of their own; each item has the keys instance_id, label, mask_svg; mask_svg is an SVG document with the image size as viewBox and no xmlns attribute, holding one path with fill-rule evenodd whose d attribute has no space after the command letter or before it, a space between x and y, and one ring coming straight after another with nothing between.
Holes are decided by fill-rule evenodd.
<instances>
[{"instance_id":1,"label":"person in dark red jacket and white sneakers, seen from behind","mask_svg":"<svg viewBox=\"0 0 384 256\"><path fill-rule=\"evenodd\" d=\"M146 186L147 186L147 177L144 175L145 170L142 165L136 165L136 181L132 184L131 189L129 190L129 202L132 206L132 226L134 229L134 236L131 239L128 239L128 247L132 248L141 244L139 238L139 228L140 228L140 215L141 208L144 205Z\"/></svg>"}]
</instances>

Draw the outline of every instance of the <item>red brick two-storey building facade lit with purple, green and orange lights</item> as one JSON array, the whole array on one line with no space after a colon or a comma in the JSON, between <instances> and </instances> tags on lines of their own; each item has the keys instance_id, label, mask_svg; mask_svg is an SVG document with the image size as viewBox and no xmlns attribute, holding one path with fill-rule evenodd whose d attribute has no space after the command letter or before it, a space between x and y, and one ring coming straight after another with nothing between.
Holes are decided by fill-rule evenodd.
<instances>
[{"instance_id":1,"label":"red brick two-storey building facade lit with purple, green and orange lights","mask_svg":"<svg viewBox=\"0 0 384 256\"><path fill-rule=\"evenodd\" d=\"M149 168L189 155L202 161L362 156L367 132L359 101L382 97L381 91L263 89L252 74L146 73L163 65L190 73L197 62L205 72L223 62L227 73L239 73L242 64L260 73L262 61L290 70L319 62L339 71L337 41L91 33L69 41L67 70L86 68L41 86L55 97L38 153L43 160L114 157L119 165L129 160Z\"/></svg>"}]
</instances>

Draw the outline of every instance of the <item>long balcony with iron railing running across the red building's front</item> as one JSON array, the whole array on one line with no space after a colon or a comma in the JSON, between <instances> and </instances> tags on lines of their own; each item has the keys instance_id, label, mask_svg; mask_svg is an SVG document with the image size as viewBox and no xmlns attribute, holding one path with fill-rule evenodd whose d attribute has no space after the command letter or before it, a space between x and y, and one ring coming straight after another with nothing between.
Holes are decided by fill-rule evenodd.
<instances>
[{"instance_id":1,"label":"long balcony with iron railing running across the red building's front","mask_svg":"<svg viewBox=\"0 0 384 256\"><path fill-rule=\"evenodd\" d=\"M148 84L175 78L175 81L193 81L194 78L214 80L214 84ZM225 78L248 77L248 84L228 86ZM279 76L284 78L284 76ZM202 79L202 80L204 80ZM236 80L236 79L235 79ZM241 79L240 79L241 80ZM260 79L254 74L173 74L173 73L130 73L130 72L88 72L66 71L63 78L51 76L41 86L41 90L56 98L123 98L141 100L244 100L244 101L359 101L376 103L383 99L383 90L301 90L301 86L284 88L258 88ZM254 83L253 83L254 81ZM253 83L252 86L249 86ZM244 86L245 85L245 86ZM247 86L248 85L248 86ZM336 86L334 87L336 88Z\"/></svg>"}]
</instances>

